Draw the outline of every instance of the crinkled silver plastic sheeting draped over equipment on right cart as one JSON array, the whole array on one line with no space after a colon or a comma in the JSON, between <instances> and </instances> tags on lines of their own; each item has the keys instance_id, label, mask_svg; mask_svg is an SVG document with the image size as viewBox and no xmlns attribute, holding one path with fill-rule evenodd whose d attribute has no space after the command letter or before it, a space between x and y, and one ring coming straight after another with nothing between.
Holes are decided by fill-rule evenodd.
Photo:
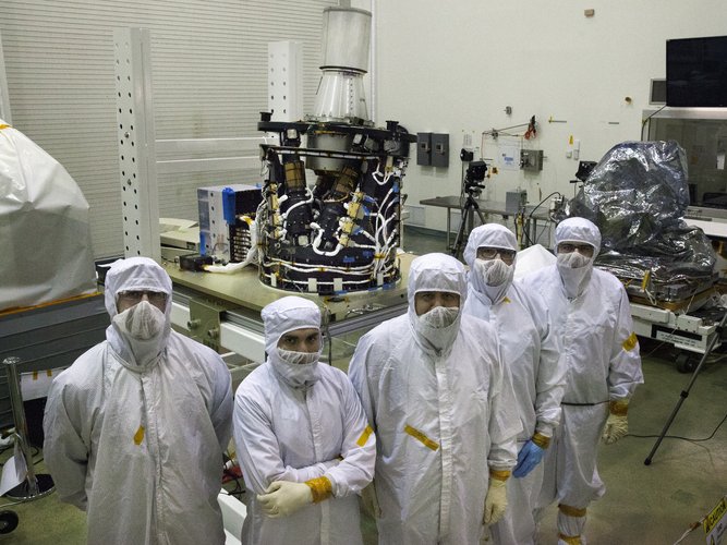
<instances>
[{"instance_id":1,"label":"crinkled silver plastic sheeting draped over equipment on right cart","mask_svg":"<svg viewBox=\"0 0 727 545\"><path fill-rule=\"evenodd\" d=\"M566 214L601 229L597 266L639 286L650 272L646 294L689 296L713 283L716 256L702 230L682 219L689 206L687 180L678 143L625 142L601 159Z\"/></svg>"}]
</instances>

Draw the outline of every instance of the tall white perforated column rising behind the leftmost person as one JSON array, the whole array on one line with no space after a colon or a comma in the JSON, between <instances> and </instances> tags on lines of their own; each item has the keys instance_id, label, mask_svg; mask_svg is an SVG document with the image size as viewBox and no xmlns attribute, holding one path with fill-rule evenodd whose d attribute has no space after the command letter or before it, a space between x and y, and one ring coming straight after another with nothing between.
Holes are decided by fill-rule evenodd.
<instances>
[{"instance_id":1,"label":"tall white perforated column rising behind the leftmost person","mask_svg":"<svg viewBox=\"0 0 727 545\"><path fill-rule=\"evenodd\" d=\"M149 32L113 32L124 255L161 258Z\"/></svg>"}]
</instances>

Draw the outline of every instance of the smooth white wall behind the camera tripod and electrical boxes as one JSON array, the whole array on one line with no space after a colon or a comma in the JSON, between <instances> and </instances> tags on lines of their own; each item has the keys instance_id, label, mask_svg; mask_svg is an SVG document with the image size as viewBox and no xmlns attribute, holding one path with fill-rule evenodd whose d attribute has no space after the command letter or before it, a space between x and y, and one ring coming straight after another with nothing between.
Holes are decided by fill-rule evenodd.
<instances>
[{"instance_id":1,"label":"smooth white wall behind the camera tripod and electrical boxes","mask_svg":"<svg viewBox=\"0 0 727 545\"><path fill-rule=\"evenodd\" d=\"M666 75L666 39L727 32L724 0L373 1L375 119L396 119L413 133L450 135L448 169L416 166L412 147L404 180L409 204L459 194L464 133L480 146L483 131L531 116L538 133L523 146L544 150L543 171L500 170L486 180L483 197L505 201L517 186L528 190L530 204L553 191L572 197L569 181L578 161L566 158L569 137L581 141L582 160L641 140L650 81ZM595 16L585 17L585 9ZM495 150L486 145L485 158ZM444 230L444 209L427 207L426 227Z\"/></svg>"}]
</instances>

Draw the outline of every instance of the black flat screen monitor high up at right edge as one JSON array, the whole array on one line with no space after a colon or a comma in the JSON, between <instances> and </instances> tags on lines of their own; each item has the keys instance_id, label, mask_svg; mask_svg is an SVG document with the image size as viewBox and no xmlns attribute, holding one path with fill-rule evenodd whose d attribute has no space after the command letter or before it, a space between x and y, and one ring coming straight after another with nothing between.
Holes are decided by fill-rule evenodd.
<instances>
[{"instance_id":1,"label":"black flat screen monitor high up at right edge","mask_svg":"<svg viewBox=\"0 0 727 545\"><path fill-rule=\"evenodd\" d=\"M667 40L666 104L727 107L727 36Z\"/></svg>"}]
</instances>

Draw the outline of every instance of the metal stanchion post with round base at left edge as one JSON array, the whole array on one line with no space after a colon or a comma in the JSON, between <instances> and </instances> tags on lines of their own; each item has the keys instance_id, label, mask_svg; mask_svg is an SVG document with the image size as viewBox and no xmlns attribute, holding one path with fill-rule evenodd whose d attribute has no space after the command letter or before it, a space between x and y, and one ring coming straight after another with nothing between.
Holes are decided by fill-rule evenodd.
<instances>
[{"instance_id":1,"label":"metal stanchion post with round base at left edge","mask_svg":"<svg viewBox=\"0 0 727 545\"><path fill-rule=\"evenodd\" d=\"M23 452L27 473L25 482L19 484L5 494L9 498L20 501L31 501L47 496L53 492L53 480L48 474L35 474L33 468L33 456L27 443L27 422L25 420L25 410L23 409L23 395L21 392L21 377L17 371L20 358L5 358L3 364L8 372L8 389L10 390L10 404L13 410L13 421L15 422L14 439Z\"/></svg>"}]
</instances>

